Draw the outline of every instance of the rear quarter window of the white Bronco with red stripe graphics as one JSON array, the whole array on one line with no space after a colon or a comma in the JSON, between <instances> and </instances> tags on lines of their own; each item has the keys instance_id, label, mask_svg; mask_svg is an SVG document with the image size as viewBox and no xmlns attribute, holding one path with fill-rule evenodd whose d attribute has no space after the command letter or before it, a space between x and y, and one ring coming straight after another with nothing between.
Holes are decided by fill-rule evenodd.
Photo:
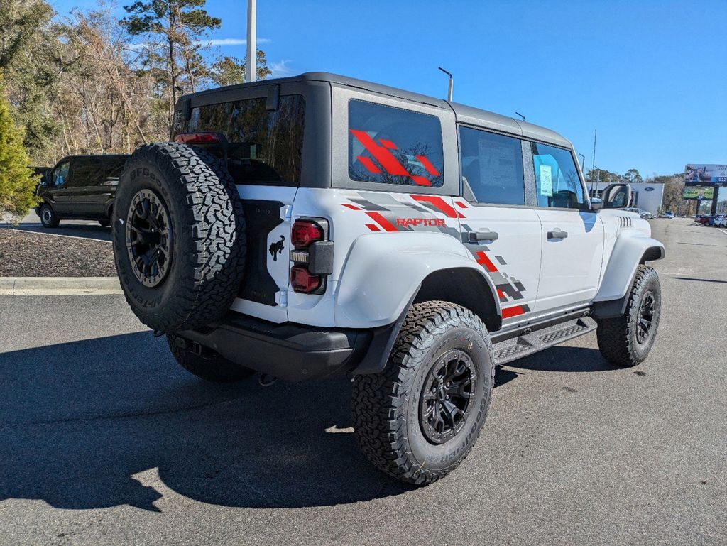
<instances>
[{"instance_id":1,"label":"rear quarter window of the white Bronco with red stripe graphics","mask_svg":"<svg viewBox=\"0 0 727 546\"><path fill-rule=\"evenodd\" d=\"M442 127L436 116L351 100L348 129L351 180L443 184Z\"/></svg>"}]
</instances>

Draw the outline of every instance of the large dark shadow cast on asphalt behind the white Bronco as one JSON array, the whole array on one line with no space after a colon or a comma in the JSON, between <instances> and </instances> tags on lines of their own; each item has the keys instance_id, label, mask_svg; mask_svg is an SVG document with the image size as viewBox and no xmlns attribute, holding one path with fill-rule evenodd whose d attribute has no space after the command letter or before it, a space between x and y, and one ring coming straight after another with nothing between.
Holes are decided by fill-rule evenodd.
<instances>
[{"instance_id":1,"label":"large dark shadow cast on asphalt behind the white Bronco","mask_svg":"<svg viewBox=\"0 0 727 546\"><path fill-rule=\"evenodd\" d=\"M150 332L0 353L0 374L0 500L164 510L169 488L306 507L411 489L358 451L345 377L213 385Z\"/></svg>"}]
</instances>

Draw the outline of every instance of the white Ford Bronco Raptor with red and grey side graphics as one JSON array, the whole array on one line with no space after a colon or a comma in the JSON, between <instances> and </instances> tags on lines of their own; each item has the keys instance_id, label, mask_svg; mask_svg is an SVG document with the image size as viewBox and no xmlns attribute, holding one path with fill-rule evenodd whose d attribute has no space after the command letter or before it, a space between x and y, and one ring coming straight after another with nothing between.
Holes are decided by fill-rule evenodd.
<instances>
[{"instance_id":1,"label":"white Ford Bronco Raptor with red and grey side graphics","mask_svg":"<svg viewBox=\"0 0 727 546\"><path fill-rule=\"evenodd\" d=\"M654 344L664 246L549 129L306 73L185 95L174 132L116 193L132 310L205 380L350 374L395 478L462 462L496 365L594 329L619 366Z\"/></svg>"}]
</instances>

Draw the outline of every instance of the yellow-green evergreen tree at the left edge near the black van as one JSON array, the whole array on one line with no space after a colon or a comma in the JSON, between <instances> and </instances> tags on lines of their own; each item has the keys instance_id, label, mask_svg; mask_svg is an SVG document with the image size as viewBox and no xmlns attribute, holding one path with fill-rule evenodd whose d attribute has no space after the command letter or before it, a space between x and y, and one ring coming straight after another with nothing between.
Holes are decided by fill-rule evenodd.
<instances>
[{"instance_id":1,"label":"yellow-green evergreen tree at the left edge near the black van","mask_svg":"<svg viewBox=\"0 0 727 546\"><path fill-rule=\"evenodd\" d=\"M33 196L36 177L29 165L30 158L23 146L23 130L12 120L0 79L0 213L23 217L36 204Z\"/></svg>"}]
</instances>

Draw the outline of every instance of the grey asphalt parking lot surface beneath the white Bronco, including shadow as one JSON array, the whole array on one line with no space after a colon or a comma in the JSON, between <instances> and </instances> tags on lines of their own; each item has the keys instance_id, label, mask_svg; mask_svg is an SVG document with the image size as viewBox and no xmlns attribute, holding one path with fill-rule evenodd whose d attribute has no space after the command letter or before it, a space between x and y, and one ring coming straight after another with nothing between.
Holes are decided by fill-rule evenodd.
<instances>
[{"instance_id":1,"label":"grey asphalt parking lot surface beneath the white Bronco, including shadow","mask_svg":"<svg viewBox=\"0 0 727 546\"><path fill-rule=\"evenodd\" d=\"M652 226L648 360L591 334L499 369L470 457L419 489L358 453L345 378L209 385L122 296L0 296L0 544L724 545L727 233Z\"/></svg>"}]
</instances>

